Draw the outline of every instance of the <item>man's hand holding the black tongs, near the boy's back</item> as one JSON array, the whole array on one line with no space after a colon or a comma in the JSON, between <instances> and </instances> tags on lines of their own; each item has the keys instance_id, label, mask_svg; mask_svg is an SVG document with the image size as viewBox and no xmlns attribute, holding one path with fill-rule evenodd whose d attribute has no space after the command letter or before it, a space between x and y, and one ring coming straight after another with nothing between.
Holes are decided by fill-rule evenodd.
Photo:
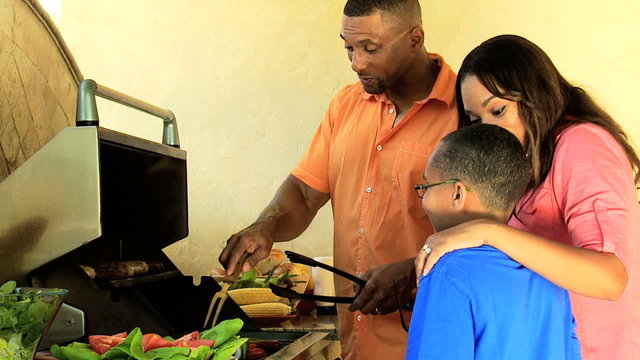
<instances>
[{"instance_id":1,"label":"man's hand holding the black tongs, near the boy's back","mask_svg":"<svg viewBox=\"0 0 640 360\"><path fill-rule=\"evenodd\" d=\"M363 314L389 314L405 304L416 287L414 259L380 266L364 273L360 278L367 281L361 287L354 285L356 300L349 311L360 310ZM397 299L397 301L396 301Z\"/></svg>"}]
</instances>

